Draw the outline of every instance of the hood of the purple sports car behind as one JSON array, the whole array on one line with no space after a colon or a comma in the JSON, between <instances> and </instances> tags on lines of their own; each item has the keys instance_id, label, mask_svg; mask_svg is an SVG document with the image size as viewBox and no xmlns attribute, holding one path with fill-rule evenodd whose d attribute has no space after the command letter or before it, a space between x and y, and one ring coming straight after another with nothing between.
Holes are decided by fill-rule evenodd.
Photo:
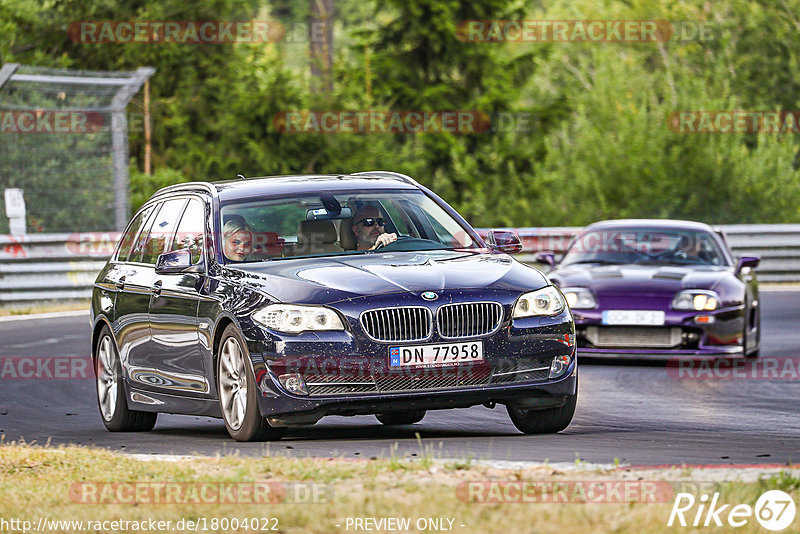
<instances>
[{"instance_id":1,"label":"hood of the purple sports car behind","mask_svg":"<svg viewBox=\"0 0 800 534\"><path fill-rule=\"evenodd\" d=\"M588 287L602 293L673 294L682 289L715 289L733 278L730 267L678 265L593 265L558 268L548 274L560 287Z\"/></svg>"}]
</instances>

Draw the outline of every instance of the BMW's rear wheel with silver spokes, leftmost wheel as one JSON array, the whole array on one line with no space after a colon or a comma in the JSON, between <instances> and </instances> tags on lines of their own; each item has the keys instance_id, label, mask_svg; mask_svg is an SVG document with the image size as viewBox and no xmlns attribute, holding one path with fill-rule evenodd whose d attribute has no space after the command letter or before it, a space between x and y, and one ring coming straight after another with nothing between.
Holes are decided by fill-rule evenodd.
<instances>
[{"instance_id":1,"label":"BMW's rear wheel with silver spokes, leftmost wheel","mask_svg":"<svg viewBox=\"0 0 800 534\"><path fill-rule=\"evenodd\" d=\"M105 427L111 432L147 432L156 426L158 413L140 412L128 408L125 385L122 382L122 363L111 336L104 326L94 348L97 407Z\"/></svg>"}]
</instances>

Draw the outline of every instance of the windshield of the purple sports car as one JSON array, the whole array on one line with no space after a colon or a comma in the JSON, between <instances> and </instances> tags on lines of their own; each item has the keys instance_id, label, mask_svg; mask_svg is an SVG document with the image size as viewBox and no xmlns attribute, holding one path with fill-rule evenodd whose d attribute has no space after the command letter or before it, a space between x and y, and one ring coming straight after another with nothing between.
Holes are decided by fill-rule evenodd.
<instances>
[{"instance_id":1,"label":"windshield of the purple sports car","mask_svg":"<svg viewBox=\"0 0 800 534\"><path fill-rule=\"evenodd\" d=\"M714 236L686 230L593 230L569 247L561 265L728 265Z\"/></svg>"}]
</instances>

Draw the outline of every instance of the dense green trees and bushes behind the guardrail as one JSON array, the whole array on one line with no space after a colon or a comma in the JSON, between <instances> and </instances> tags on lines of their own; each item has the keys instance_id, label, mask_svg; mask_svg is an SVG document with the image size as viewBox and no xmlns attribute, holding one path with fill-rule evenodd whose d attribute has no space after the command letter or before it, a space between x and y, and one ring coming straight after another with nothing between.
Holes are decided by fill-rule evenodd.
<instances>
[{"instance_id":1,"label":"dense green trees and bushes behind the guardrail","mask_svg":"<svg viewBox=\"0 0 800 534\"><path fill-rule=\"evenodd\" d=\"M142 134L131 132L134 207L180 180L390 169L432 187L479 226L800 221L794 135L686 134L667 125L680 110L800 109L800 0L336 0L336 8L331 93L315 90L307 43L291 39L81 44L64 29L80 20L250 19L294 28L308 16L301 0L0 0L0 62L157 69L156 172L141 172ZM459 21L486 19L705 22L711 38L458 39ZM132 106L139 111L141 100ZM298 134L274 124L285 111L365 109L480 110L495 128ZM526 122L497 122L512 114Z\"/></svg>"}]
</instances>

